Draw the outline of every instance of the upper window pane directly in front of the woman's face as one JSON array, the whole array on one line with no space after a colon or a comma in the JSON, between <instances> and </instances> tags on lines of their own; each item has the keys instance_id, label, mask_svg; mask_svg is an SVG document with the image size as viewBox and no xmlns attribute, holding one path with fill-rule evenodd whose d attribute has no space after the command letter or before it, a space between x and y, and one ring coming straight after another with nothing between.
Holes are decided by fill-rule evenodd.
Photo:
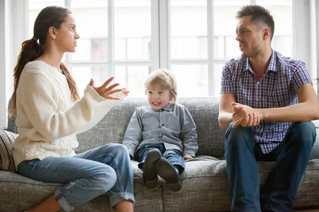
<instances>
[{"instance_id":1,"label":"upper window pane directly in front of the woman's face","mask_svg":"<svg viewBox=\"0 0 319 212\"><path fill-rule=\"evenodd\" d=\"M108 1L72 0L71 11L80 36L72 60L108 59Z\"/></svg>"}]
</instances>

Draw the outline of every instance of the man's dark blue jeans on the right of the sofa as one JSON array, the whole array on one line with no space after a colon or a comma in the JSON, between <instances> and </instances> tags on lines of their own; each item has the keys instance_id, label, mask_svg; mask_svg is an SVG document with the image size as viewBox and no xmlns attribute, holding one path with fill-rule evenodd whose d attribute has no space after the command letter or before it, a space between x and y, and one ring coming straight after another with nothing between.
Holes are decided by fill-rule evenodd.
<instances>
[{"instance_id":1,"label":"man's dark blue jeans on the right of the sofa","mask_svg":"<svg viewBox=\"0 0 319 212\"><path fill-rule=\"evenodd\" d=\"M291 211L315 143L314 124L292 123L284 140L269 154L262 154L255 143L252 127L233 129L232 124L225 140L232 211ZM256 160L276 161L260 192Z\"/></svg>"}]
</instances>

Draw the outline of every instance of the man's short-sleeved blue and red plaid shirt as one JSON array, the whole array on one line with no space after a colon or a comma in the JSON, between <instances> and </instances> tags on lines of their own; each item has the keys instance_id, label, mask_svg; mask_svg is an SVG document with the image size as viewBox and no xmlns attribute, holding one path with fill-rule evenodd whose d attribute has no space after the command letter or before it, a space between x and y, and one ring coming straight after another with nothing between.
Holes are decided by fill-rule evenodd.
<instances>
[{"instance_id":1,"label":"man's short-sleeved blue and red plaid shirt","mask_svg":"<svg viewBox=\"0 0 319 212\"><path fill-rule=\"evenodd\" d=\"M235 93L237 102L252 108L286 107L298 103L297 90L312 83L305 63L272 50L266 73L259 79L249 58L235 58L223 67L220 93ZM270 153L284 139L290 122L260 121L254 127L256 143Z\"/></svg>"}]
</instances>

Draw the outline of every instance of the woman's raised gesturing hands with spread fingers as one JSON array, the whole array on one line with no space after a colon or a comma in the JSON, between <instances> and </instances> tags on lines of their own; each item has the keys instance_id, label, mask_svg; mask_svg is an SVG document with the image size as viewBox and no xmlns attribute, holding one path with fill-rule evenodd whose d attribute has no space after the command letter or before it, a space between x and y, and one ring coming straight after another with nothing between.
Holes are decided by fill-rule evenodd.
<instances>
[{"instance_id":1,"label":"woman's raised gesturing hands with spread fingers","mask_svg":"<svg viewBox=\"0 0 319 212\"><path fill-rule=\"evenodd\" d=\"M94 81L93 79L91 79L90 81L90 86L96 91L98 92L98 94L100 94L101 97L105 98L105 99L115 99L115 100L120 100L119 98L110 96L112 93L116 93L116 92L122 92L123 94L125 94L126 96L128 95L128 93L130 91L126 90L126 88L118 88L118 89L114 89L116 86L120 85L119 83L115 83L113 85L108 86L108 84L110 84L110 82L114 79L114 77L111 77L110 79L108 79L103 85L101 85L100 87L95 87L94 86ZM108 86L108 87L107 87Z\"/></svg>"}]
</instances>

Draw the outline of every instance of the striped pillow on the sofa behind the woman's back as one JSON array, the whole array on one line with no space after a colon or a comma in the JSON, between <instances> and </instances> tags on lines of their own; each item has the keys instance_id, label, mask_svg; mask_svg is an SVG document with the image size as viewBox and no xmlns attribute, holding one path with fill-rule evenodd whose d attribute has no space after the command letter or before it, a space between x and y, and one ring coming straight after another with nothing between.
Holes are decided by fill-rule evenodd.
<instances>
[{"instance_id":1,"label":"striped pillow on the sofa behind the woman's back","mask_svg":"<svg viewBox=\"0 0 319 212\"><path fill-rule=\"evenodd\" d=\"M0 130L0 170L15 172L12 143L18 134Z\"/></svg>"}]
</instances>

